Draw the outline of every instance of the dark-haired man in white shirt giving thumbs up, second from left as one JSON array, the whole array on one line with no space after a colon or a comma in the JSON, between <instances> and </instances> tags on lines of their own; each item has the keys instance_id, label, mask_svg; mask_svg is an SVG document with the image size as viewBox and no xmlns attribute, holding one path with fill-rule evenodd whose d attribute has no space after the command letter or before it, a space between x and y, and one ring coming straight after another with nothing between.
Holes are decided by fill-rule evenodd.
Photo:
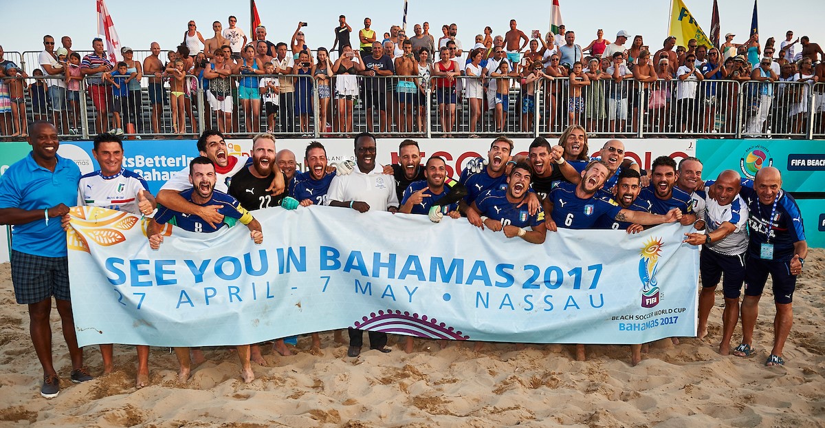
<instances>
[{"instance_id":1,"label":"dark-haired man in white shirt giving thumbs up, second from left","mask_svg":"<svg viewBox=\"0 0 825 428\"><path fill-rule=\"evenodd\" d=\"M101 169L83 175L78 183L78 206L104 207L111 210L150 216L155 200L148 191L146 180L139 174L123 168L123 142L119 136L103 133L95 137L92 155ZM64 228L68 228L68 215L64 216ZM103 357L103 373L114 369L111 344L100 345ZM138 375L135 387L144 388L149 383L149 347L137 345Z\"/></svg>"}]
</instances>

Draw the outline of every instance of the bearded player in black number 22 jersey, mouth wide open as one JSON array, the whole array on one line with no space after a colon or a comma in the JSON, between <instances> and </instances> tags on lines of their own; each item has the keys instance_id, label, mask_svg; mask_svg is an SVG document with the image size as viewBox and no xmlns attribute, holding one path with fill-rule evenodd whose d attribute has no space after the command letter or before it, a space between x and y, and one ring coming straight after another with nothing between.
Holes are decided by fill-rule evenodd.
<instances>
[{"instance_id":1,"label":"bearded player in black number 22 jersey, mouth wide open","mask_svg":"<svg viewBox=\"0 0 825 428\"><path fill-rule=\"evenodd\" d=\"M229 183L229 195L237 199L247 211L279 206L294 210L298 207L298 201L286 196L286 193L272 195L266 191L275 174L283 174L284 180L288 181L286 174L275 168L275 157L275 136L258 134L252 139L252 164L238 171ZM283 339L275 341L274 349L284 356L292 354ZM257 364L266 365L261 347L257 344L250 345L249 358Z\"/></svg>"}]
</instances>

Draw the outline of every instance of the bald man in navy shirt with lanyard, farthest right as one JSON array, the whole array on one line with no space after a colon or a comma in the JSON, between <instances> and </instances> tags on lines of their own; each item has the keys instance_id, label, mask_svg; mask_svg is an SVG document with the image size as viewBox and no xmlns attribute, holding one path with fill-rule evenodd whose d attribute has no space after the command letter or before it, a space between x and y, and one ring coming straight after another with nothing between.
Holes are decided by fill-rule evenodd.
<instances>
[{"instance_id":1,"label":"bald man in navy shirt with lanyard, farthest right","mask_svg":"<svg viewBox=\"0 0 825 428\"><path fill-rule=\"evenodd\" d=\"M802 273L808 243L805 241L802 213L796 201L782 190L779 169L765 167L754 179L756 194L746 198L750 240L745 265L745 298L742 301L742 345L733 354L740 357L753 352L753 327L759 315L759 297L768 274L773 279L776 316L774 344L765 365L783 365L782 350L794 322L793 297L796 277Z\"/></svg>"}]
</instances>

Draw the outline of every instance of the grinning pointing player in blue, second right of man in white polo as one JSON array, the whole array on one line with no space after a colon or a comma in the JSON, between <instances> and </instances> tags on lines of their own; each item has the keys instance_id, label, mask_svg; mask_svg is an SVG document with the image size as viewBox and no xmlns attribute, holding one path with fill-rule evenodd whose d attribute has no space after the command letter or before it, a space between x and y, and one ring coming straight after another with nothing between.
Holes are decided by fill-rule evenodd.
<instances>
[{"instance_id":1,"label":"grinning pointing player in blue, second right of man in white polo","mask_svg":"<svg viewBox=\"0 0 825 428\"><path fill-rule=\"evenodd\" d=\"M458 202L442 205L439 202L450 189L461 186L460 183L447 176L447 164L443 158L432 156L424 165L423 180L411 183L404 191L399 212L406 214L423 214L430 216L434 222L441 221L444 215L460 218ZM431 210L436 207L436 210ZM441 214L441 216L439 216Z\"/></svg>"}]
</instances>

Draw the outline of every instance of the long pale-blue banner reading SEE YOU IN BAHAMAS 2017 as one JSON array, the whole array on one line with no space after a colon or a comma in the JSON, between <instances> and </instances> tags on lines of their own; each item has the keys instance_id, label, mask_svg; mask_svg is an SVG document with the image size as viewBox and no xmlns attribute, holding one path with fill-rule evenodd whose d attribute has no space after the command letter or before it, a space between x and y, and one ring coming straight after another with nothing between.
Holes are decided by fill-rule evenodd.
<instances>
[{"instance_id":1,"label":"long pale-blue banner reading SEE YOU IN BAHAMAS 2017","mask_svg":"<svg viewBox=\"0 0 825 428\"><path fill-rule=\"evenodd\" d=\"M74 207L80 345L243 345L347 327L432 339L638 344L696 331L690 226L548 232L544 245L464 219L335 207L253 212L212 234ZM367 226L369 225L369 226Z\"/></svg>"}]
</instances>

